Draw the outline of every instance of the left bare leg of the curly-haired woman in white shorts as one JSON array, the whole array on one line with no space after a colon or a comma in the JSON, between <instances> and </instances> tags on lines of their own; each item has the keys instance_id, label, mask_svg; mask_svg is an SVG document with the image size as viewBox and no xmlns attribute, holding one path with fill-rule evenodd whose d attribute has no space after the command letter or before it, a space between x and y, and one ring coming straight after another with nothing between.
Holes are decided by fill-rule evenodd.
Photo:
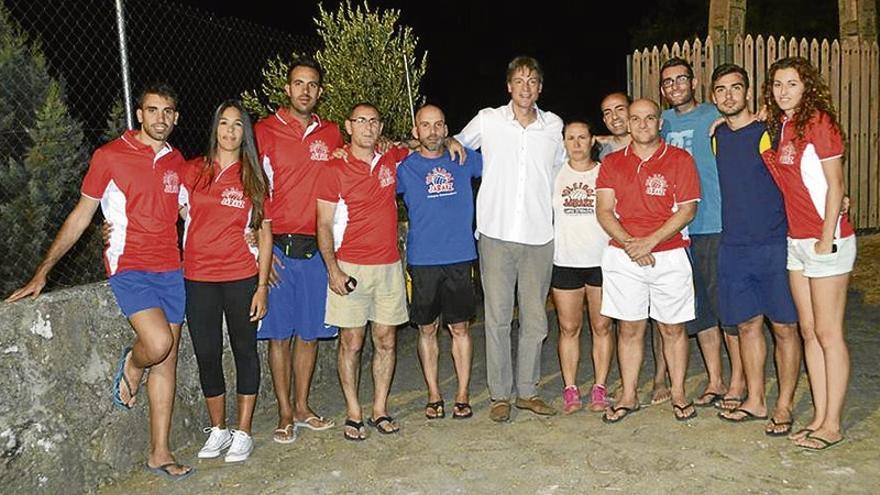
<instances>
[{"instance_id":1,"label":"left bare leg of the curly-haired woman in white shorts","mask_svg":"<svg viewBox=\"0 0 880 495\"><path fill-rule=\"evenodd\" d=\"M813 419L807 423L805 428L815 431L825 421L825 353L816 338L810 280L804 277L803 272L790 271L788 272L788 282L791 287L791 297L794 299L794 306L798 313L801 338L804 340L804 360L807 363L807 377L810 380L810 392L813 396ZM795 434L790 438L798 440L805 434Z\"/></svg>"}]
</instances>

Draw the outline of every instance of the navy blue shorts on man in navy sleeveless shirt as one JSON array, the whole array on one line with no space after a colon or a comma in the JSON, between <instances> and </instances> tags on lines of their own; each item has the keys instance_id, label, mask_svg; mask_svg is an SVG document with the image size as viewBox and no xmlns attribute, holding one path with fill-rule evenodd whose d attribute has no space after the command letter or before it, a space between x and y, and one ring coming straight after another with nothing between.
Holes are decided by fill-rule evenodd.
<instances>
[{"instance_id":1,"label":"navy blue shorts on man in navy sleeveless shirt","mask_svg":"<svg viewBox=\"0 0 880 495\"><path fill-rule=\"evenodd\" d=\"M721 245L718 299L721 321L738 325L757 315L775 323L797 323L786 270L787 245Z\"/></svg>"}]
</instances>

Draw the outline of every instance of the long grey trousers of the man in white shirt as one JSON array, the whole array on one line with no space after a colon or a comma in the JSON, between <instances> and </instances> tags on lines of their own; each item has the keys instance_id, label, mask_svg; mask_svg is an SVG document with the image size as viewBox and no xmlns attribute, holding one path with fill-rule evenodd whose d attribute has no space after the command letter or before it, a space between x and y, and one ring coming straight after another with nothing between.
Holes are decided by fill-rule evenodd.
<instances>
[{"instance_id":1,"label":"long grey trousers of the man in white shirt","mask_svg":"<svg viewBox=\"0 0 880 495\"><path fill-rule=\"evenodd\" d=\"M481 236L480 276L486 313L486 374L493 400L513 395L510 325L516 289L519 341L516 392L524 399L537 393L541 378L541 346L547 337L547 293L553 273L553 242L542 246Z\"/></svg>"}]
</instances>

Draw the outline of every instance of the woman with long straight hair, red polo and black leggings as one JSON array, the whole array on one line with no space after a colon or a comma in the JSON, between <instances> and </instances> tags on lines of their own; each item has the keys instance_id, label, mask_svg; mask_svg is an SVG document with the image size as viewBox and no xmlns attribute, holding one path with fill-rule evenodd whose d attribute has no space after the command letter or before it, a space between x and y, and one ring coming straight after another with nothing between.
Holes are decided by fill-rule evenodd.
<instances>
[{"instance_id":1,"label":"woman with long straight hair, red polo and black leggings","mask_svg":"<svg viewBox=\"0 0 880 495\"><path fill-rule=\"evenodd\" d=\"M183 268L186 319L211 428L200 458L243 461L253 450L251 419L260 383L257 321L266 314L272 259L269 228L261 228L267 180L257 158L251 119L237 100L214 113L207 154L189 162L181 204L185 208ZM245 234L255 232L256 252ZM256 258L255 258L256 256ZM226 427L223 320L235 357L238 429Z\"/></svg>"}]
</instances>

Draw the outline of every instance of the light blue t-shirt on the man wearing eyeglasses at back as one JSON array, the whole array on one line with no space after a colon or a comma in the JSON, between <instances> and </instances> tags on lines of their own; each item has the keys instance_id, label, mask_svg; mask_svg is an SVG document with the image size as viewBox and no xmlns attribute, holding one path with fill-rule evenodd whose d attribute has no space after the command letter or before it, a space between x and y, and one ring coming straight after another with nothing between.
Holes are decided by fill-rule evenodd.
<instances>
[{"instance_id":1,"label":"light blue t-shirt on the man wearing eyeglasses at back","mask_svg":"<svg viewBox=\"0 0 880 495\"><path fill-rule=\"evenodd\" d=\"M700 103L688 113L679 114L674 108L663 112L663 128L660 134L667 143L683 148L694 157L700 175L700 203L697 215L688 224L691 234L717 234L721 232L721 188L718 185L718 168L712 153L709 128L721 114L714 105Z\"/></svg>"}]
</instances>

